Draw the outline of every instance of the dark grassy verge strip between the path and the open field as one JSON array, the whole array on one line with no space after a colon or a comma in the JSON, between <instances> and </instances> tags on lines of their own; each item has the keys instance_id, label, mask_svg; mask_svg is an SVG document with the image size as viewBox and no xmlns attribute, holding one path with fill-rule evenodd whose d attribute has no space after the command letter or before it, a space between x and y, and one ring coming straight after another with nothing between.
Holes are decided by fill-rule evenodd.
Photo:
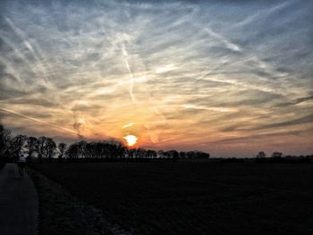
<instances>
[{"instance_id":1,"label":"dark grassy verge strip between the path and the open field","mask_svg":"<svg viewBox=\"0 0 313 235\"><path fill-rule=\"evenodd\" d=\"M31 169L27 172L38 190L38 235L128 234L53 180Z\"/></svg>"}]
</instances>

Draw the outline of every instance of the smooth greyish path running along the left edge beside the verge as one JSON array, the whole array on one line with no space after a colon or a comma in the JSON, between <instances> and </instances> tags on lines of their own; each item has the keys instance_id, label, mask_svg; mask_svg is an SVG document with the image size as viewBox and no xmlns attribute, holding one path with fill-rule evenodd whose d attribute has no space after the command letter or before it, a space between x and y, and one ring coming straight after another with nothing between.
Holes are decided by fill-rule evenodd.
<instances>
[{"instance_id":1,"label":"smooth greyish path running along the left edge beside the verge","mask_svg":"<svg viewBox=\"0 0 313 235\"><path fill-rule=\"evenodd\" d=\"M0 170L1 235L37 234L38 195L25 173L18 178L16 164L5 164Z\"/></svg>"}]
</instances>

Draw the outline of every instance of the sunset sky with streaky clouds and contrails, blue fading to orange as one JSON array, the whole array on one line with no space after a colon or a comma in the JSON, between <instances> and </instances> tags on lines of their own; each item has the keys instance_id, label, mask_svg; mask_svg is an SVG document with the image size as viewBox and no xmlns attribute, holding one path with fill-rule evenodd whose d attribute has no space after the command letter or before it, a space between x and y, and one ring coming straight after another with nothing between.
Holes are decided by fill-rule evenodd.
<instances>
[{"instance_id":1,"label":"sunset sky with streaky clouds and contrails, blue fading to orange","mask_svg":"<svg viewBox=\"0 0 313 235\"><path fill-rule=\"evenodd\" d=\"M313 1L0 3L0 117L57 142L313 153Z\"/></svg>"}]
</instances>

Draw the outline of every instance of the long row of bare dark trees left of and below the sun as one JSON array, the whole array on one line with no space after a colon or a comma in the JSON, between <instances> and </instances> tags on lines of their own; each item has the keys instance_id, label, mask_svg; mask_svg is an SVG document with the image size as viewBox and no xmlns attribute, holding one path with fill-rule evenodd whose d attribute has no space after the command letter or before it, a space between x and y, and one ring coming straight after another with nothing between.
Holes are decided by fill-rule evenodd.
<instances>
[{"instance_id":1,"label":"long row of bare dark trees left of and below the sun","mask_svg":"<svg viewBox=\"0 0 313 235\"><path fill-rule=\"evenodd\" d=\"M53 138L28 137L26 135L11 136L11 131L4 128L0 122L0 158L14 161L21 154L29 161L37 157L38 161L60 162L94 162L94 161L148 161L151 159L208 159L209 154L201 151L179 152L177 150L151 150L144 148L129 148L117 140L90 141L80 140L71 145L59 143Z\"/></svg>"}]
</instances>

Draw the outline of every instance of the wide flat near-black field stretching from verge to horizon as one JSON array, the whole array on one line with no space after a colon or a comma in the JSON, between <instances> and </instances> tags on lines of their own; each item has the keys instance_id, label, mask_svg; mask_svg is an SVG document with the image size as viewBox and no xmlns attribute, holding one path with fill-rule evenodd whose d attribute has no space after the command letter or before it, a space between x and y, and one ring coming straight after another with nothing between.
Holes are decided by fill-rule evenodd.
<instances>
[{"instance_id":1,"label":"wide flat near-black field stretching from verge to horizon","mask_svg":"<svg viewBox=\"0 0 313 235\"><path fill-rule=\"evenodd\" d=\"M313 234L312 164L31 167L136 234Z\"/></svg>"}]
</instances>

